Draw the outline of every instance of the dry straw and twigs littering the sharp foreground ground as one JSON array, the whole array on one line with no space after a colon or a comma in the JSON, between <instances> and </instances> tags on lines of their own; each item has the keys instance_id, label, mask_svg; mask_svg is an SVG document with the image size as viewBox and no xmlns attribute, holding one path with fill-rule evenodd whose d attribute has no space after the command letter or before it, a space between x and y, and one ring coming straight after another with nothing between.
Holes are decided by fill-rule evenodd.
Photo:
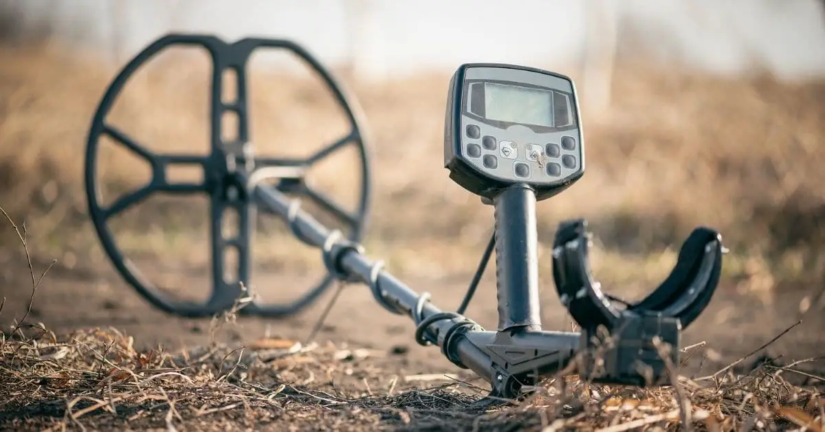
<instances>
[{"instance_id":1,"label":"dry straw and twigs littering the sharp foreground ground","mask_svg":"<svg viewBox=\"0 0 825 432\"><path fill-rule=\"evenodd\" d=\"M2 211L2 209L0 209ZM39 276L25 227L31 299ZM0 427L13 430L811 430L825 429L825 377L770 359L740 367L785 335L704 377L637 388L585 382L568 368L518 401L490 406L471 373L404 375L383 351L266 337L232 347L216 335L249 298L214 316L210 344L135 349L114 328L56 335L42 324L0 330ZM0 301L0 313L5 299ZM797 323L798 325L799 323ZM683 366L705 344L682 349ZM574 363L573 363L574 364ZM701 368L700 368L701 369ZM804 378L790 381L784 373ZM421 382L446 381L435 387ZM478 383L477 383L478 382Z\"/></svg>"}]
</instances>

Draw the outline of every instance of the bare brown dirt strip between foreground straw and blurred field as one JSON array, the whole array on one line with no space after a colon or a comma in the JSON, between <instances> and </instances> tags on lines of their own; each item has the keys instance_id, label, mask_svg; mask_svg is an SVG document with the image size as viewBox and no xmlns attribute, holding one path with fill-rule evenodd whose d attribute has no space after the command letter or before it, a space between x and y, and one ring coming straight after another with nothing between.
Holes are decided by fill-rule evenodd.
<instances>
[{"instance_id":1,"label":"bare brown dirt strip between foreground straw and blurred field","mask_svg":"<svg viewBox=\"0 0 825 432\"><path fill-rule=\"evenodd\" d=\"M189 278L191 288L188 289L208 289L207 272L208 269L204 268L200 274L192 274ZM492 329L497 320L497 303L495 281L491 280L489 273L467 315L485 328ZM572 320L560 306L552 288L552 279L548 278L549 275L544 277L541 292L544 327L546 330L570 330ZM257 275L256 289L262 300L266 301L284 298L279 292L306 289L316 279L264 273ZM28 282L31 285L31 280ZM431 292L433 302L442 309L454 310L464 297L469 277L455 280L405 278L403 282L418 292ZM12 292L12 297L7 297L3 309L6 322L12 318L19 319L25 313L29 300L29 292L22 289L26 286L26 279L16 280L15 285L21 289ZM398 373L455 373L459 370L443 358L438 349L417 346L413 338L415 326L412 320L381 309L367 287L354 284L344 289L316 337L318 342L330 340L360 348L380 349L386 354L403 351L404 354L399 357L399 360L403 358L399 362L402 369ZM224 340L238 345L265 335L305 340L334 290L335 287L332 287L314 306L285 320L239 318L238 324L223 335L227 338ZM822 331L825 329L825 313L800 313L800 304L810 304L812 294L814 292L804 289L787 290L773 301L765 302L758 297L742 294L729 282L723 282L705 313L686 330L683 344L707 342L710 350L715 352L705 363L705 368L711 369L724 366L742 354L759 348L804 318L801 325L760 354L771 358L787 357L789 362L821 357L825 355L825 335ZM70 273L50 270L36 293L30 320L42 322L46 328L58 332L112 326L133 336L136 347L143 349L157 344L167 349L191 348L204 345L210 339L210 320L181 319L154 310L110 268Z\"/></svg>"}]
</instances>

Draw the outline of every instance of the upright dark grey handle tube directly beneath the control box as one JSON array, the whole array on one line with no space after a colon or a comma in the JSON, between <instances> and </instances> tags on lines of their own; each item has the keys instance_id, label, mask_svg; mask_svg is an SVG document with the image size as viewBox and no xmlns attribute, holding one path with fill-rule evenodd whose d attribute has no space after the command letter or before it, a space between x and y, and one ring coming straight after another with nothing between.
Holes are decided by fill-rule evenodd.
<instances>
[{"instance_id":1,"label":"upright dark grey handle tube directly beneath the control box","mask_svg":"<svg viewBox=\"0 0 825 432\"><path fill-rule=\"evenodd\" d=\"M516 184L493 198L498 330L541 330L535 192Z\"/></svg>"}]
</instances>

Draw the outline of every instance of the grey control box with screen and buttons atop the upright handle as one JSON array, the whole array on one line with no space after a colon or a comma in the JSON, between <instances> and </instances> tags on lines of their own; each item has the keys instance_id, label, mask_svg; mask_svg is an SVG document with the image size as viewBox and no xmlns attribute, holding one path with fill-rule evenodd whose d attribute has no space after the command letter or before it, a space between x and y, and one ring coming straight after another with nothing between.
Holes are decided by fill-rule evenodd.
<instances>
[{"instance_id":1,"label":"grey control box with screen and buttons atop the upright handle","mask_svg":"<svg viewBox=\"0 0 825 432\"><path fill-rule=\"evenodd\" d=\"M450 80L445 166L470 192L514 183L551 197L582 177L584 143L573 81L512 64L464 64Z\"/></svg>"}]
</instances>

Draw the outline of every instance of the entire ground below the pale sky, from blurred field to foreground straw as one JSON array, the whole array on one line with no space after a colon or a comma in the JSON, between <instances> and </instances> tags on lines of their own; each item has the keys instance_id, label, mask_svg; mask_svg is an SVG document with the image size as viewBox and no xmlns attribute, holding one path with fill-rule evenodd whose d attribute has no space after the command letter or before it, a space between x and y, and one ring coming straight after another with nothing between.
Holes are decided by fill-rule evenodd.
<instances>
[{"instance_id":1,"label":"entire ground below the pale sky, from blurred field to foreground straw","mask_svg":"<svg viewBox=\"0 0 825 432\"><path fill-rule=\"evenodd\" d=\"M112 113L115 124L154 151L204 151L208 69L202 60L167 59L136 77ZM589 387L575 377L551 380L540 400L526 405L479 411L472 401L483 396L476 388L483 382L438 349L417 346L412 321L381 309L363 286L344 288L314 344L306 338L332 291L285 320L238 318L215 332L212 320L153 310L101 254L82 194L85 134L112 65L28 45L3 45L0 64L0 207L25 223L35 274L56 260L29 311L26 254L13 230L0 230L0 394L9 395L0 397L0 429L124 429L127 420L134 430L562 426L554 421L566 429L620 428L630 421L673 429L685 412L672 411L684 401L673 387ZM583 107L585 178L539 206L545 329L572 325L549 272L548 245L559 221L590 221L596 277L627 298L665 277L694 225L713 226L731 252L714 300L682 343L706 344L686 354L680 373L701 377L735 363L731 371L744 375L681 381L695 425L714 429L718 419L723 430L748 422L786 428L805 424L805 415L821 423L825 84L639 64L617 71L618 97L609 112ZM492 218L441 167L447 78L352 87L373 138L367 254L385 259L409 287L431 292L437 306L450 310L464 295ZM304 143L340 135L334 110L311 84L252 76L252 136L263 153L309 154ZM111 201L145 181L148 170L106 145L98 164L104 199ZM331 160L314 182L351 205L358 180L353 166ZM116 240L155 282L202 296L209 289L205 210L197 197L150 198L113 223ZM11 224L0 220L0 226ZM258 227L252 288L262 300L283 301L309 287L322 269L318 251L300 248L277 222L258 221ZM490 268L467 311L486 328L496 322L493 287ZM12 336L24 316L28 324ZM569 388L554 393L560 382ZM713 390L703 387L708 382ZM649 409L625 409L628 403Z\"/></svg>"}]
</instances>

